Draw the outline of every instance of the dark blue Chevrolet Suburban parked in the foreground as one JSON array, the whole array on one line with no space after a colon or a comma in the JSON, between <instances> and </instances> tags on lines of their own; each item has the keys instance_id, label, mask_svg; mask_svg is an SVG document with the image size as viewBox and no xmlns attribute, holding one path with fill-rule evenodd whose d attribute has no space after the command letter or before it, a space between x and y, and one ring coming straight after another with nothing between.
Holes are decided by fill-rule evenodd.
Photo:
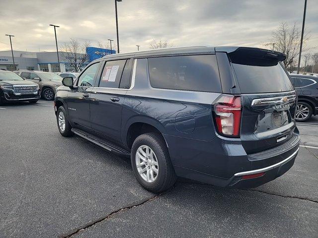
<instances>
[{"instance_id":1,"label":"dark blue Chevrolet Suburban parked in the foreground","mask_svg":"<svg viewBox=\"0 0 318 238\"><path fill-rule=\"evenodd\" d=\"M287 172L299 150L297 94L285 55L246 47L187 47L110 55L55 96L58 129L130 156L160 192L183 177L256 187Z\"/></svg>"}]
</instances>

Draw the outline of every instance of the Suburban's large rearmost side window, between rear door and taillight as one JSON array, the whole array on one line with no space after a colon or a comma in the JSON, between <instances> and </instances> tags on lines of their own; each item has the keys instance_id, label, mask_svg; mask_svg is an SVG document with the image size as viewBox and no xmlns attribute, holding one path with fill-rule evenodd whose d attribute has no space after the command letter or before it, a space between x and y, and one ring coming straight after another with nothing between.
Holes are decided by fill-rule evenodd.
<instances>
[{"instance_id":1,"label":"Suburban's large rearmost side window, between rear door and taillight","mask_svg":"<svg viewBox=\"0 0 318 238\"><path fill-rule=\"evenodd\" d=\"M222 92L215 55L149 58L148 64L154 88Z\"/></svg>"}]
</instances>

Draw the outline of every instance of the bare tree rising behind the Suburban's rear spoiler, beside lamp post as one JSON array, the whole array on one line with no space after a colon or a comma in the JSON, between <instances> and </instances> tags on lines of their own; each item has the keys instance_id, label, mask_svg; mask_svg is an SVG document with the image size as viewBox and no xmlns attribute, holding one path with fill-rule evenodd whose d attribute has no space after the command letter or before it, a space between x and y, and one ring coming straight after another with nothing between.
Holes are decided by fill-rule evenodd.
<instances>
[{"instance_id":1,"label":"bare tree rising behind the Suburban's rear spoiler, beside lamp post","mask_svg":"<svg viewBox=\"0 0 318 238\"><path fill-rule=\"evenodd\" d=\"M303 40L303 52L308 51L306 43L309 41L310 35L307 33ZM301 31L296 26L289 26L286 22L282 22L278 29L272 31L270 42L264 46L274 49L274 51L284 53L287 58L284 60L284 66L289 71L296 65L300 50Z\"/></svg>"}]
</instances>

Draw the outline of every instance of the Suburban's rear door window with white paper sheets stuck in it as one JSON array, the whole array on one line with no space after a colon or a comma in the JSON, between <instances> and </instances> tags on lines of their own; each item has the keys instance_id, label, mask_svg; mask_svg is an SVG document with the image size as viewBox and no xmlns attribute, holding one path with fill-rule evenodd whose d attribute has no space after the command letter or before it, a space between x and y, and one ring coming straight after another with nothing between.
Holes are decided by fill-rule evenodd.
<instances>
[{"instance_id":1,"label":"Suburban's rear door window with white paper sheets stuck in it","mask_svg":"<svg viewBox=\"0 0 318 238\"><path fill-rule=\"evenodd\" d=\"M127 60L107 61L100 77L99 87L119 88L121 75Z\"/></svg>"}]
</instances>

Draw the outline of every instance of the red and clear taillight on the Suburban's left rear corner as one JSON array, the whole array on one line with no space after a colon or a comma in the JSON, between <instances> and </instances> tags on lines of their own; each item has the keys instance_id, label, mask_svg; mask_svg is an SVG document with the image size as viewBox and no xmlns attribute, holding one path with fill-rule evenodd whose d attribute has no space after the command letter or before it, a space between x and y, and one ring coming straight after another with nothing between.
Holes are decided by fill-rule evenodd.
<instances>
[{"instance_id":1,"label":"red and clear taillight on the Suburban's left rear corner","mask_svg":"<svg viewBox=\"0 0 318 238\"><path fill-rule=\"evenodd\" d=\"M215 120L219 133L239 136L241 103L239 96L222 95L214 103Z\"/></svg>"}]
</instances>

